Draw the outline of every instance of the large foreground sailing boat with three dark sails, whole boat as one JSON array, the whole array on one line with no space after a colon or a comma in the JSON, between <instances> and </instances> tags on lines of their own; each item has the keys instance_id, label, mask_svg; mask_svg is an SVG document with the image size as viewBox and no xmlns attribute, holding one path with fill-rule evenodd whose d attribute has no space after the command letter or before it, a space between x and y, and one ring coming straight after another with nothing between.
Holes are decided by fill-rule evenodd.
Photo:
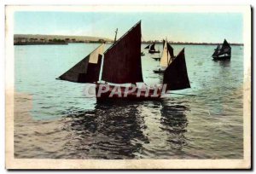
<instances>
[{"instance_id":1,"label":"large foreground sailing boat with three dark sails, whole boat","mask_svg":"<svg viewBox=\"0 0 256 174\"><path fill-rule=\"evenodd\" d=\"M104 44L87 55L59 79L96 84L96 99L158 100L167 90L190 88L184 49L164 73L164 84L143 83L141 63L141 21L104 53ZM177 60L177 61L176 61ZM89 74L92 77L89 77Z\"/></svg>"}]
</instances>

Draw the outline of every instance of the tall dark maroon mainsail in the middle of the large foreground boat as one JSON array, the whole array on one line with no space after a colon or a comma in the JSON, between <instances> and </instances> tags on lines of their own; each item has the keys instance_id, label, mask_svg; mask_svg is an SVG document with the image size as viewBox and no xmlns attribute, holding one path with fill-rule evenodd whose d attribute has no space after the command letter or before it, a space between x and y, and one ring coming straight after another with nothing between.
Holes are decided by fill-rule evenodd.
<instances>
[{"instance_id":1,"label":"tall dark maroon mainsail in the middle of the large foreground boat","mask_svg":"<svg viewBox=\"0 0 256 174\"><path fill-rule=\"evenodd\" d=\"M104 53L102 80L114 84L143 82L141 21Z\"/></svg>"}]
</instances>

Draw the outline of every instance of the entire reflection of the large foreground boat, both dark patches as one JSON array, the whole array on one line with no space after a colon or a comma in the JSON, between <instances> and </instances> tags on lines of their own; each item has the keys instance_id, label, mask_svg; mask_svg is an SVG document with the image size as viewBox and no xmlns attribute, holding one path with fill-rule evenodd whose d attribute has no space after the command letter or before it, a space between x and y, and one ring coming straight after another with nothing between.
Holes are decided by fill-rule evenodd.
<instances>
[{"instance_id":1,"label":"entire reflection of the large foreground boat, both dark patches","mask_svg":"<svg viewBox=\"0 0 256 174\"><path fill-rule=\"evenodd\" d=\"M159 105L160 120L153 127L145 119L152 113L141 114L149 105ZM188 121L183 103L169 102L97 102L93 111L71 114L64 120L63 130L70 133L64 149L73 152L66 158L79 159L140 159L154 157L160 151L178 154L186 146L184 133ZM152 124L152 123L151 123ZM147 132L165 132L165 139L152 138ZM152 130L151 130L152 129ZM164 141L165 149L154 149L155 141ZM154 158L167 158L166 154Z\"/></svg>"}]
</instances>

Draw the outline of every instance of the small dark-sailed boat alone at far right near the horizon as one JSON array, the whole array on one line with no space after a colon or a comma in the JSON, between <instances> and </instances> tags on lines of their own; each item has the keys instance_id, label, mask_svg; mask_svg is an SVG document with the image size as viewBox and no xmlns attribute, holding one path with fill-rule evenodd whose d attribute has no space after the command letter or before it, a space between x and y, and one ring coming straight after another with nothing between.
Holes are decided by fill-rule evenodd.
<instances>
[{"instance_id":1,"label":"small dark-sailed boat alone at far right near the horizon","mask_svg":"<svg viewBox=\"0 0 256 174\"><path fill-rule=\"evenodd\" d=\"M217 48L214 49L214 53L212 54L213 60L227 60L231 58L231 47L230 44L224 39L224 43L222 47L217 45Z\"/></svg>"}]
</instances>

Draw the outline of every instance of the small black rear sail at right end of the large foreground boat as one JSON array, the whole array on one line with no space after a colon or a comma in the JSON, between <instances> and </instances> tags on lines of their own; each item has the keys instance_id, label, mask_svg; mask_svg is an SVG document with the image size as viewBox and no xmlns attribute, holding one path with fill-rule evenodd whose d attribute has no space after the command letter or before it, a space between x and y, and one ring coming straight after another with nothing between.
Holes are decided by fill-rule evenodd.
<instances>
[{"instance_id":1,"label":"small black rear sail at right end of the large foreground boat","mask_svg":"<svg viewBox=\"0 0 256 174\"><path fill-rule=\"evenodd\" d=\"M183 90L190 88L184 49L176 56L164 73L166 90Z\"/></svg>"}]
</instances>

